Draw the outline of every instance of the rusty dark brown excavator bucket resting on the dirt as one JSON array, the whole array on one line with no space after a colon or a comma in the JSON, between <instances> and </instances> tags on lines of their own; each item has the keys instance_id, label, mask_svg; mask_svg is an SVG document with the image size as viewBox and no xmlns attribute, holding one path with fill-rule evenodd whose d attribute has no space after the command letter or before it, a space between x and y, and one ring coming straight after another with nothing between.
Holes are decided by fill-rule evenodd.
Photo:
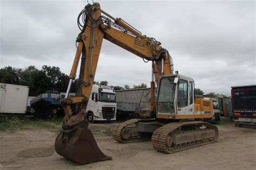
<instances>
[{"instance_id":1,"label":"rusty dark brown excavator bucket resting on the dirt","mask_svg":"<svg viewBox=\"0 0 256 170\"><path fill-rule=\"evenodd\" d=\"M112 159L100 151L92 132L87 128L61 130L55 140L55 150L78 164Z\"/></svg>"}]
</instances>

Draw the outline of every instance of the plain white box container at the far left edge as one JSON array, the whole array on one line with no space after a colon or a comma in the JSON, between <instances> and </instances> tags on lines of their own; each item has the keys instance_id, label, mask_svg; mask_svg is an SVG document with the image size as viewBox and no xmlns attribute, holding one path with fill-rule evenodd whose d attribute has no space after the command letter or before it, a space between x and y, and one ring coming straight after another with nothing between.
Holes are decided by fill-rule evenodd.
<instances>
[{"instance_id":1,"label":"plain white box container at the far left edge","mask_svg":"<svg viewBox=\"0 0 256 170\"><path fill-rule=\"evenodd\" d=\"M29 87L0 83L0 113L25 114Z\"/></svg>"}]
</instances>

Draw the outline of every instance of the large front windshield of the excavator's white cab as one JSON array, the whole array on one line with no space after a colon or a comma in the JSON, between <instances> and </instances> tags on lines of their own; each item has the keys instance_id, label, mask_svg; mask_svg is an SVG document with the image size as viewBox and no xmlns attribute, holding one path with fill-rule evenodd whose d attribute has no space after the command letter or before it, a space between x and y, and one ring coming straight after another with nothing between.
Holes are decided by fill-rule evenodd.
<instances>
[{"instance_id":1,"label":"large front windshield of the excavator's white cab","mask_svg":"<svg viewBox=\"0 0 256 170\"><path fill-rule=\"evenodd\" d=\"M174 77L164 77L161 79L157 101L158 112L170 114L174 112L173 101L176 84L173 83L173 80Z\"/></svg>"}]
</instances>

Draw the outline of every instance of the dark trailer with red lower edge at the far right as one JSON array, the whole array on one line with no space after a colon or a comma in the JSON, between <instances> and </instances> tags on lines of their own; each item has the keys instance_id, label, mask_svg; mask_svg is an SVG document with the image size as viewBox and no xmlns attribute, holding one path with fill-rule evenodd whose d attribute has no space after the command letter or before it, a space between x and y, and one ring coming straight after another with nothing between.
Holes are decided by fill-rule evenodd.
<instances>
[{"instance_id":1,"label":"dark trailer with red lower edge at the far right","mask_svg":"<svg viewBox=\"0 0 256 170\"><path fill-rule=\"evenodd\" d=\"M235 125L256 125L256 84L231 88Z\"/></svg>"}]
</instances>

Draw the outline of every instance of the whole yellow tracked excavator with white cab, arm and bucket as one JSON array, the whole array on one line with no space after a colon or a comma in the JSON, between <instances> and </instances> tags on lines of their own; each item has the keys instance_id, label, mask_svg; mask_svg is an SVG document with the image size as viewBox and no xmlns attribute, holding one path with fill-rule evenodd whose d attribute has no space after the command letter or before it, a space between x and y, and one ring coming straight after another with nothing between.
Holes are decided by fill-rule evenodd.
<instances>
[{"instance_id":1,"label":"whole yellow tracked excavator with white cab, arm and bucket","mask_svg":"<svg viewBox=\"0 0 256 170\"><path fill-rule=\"evenodd\" d=\"M145 62L152 62L151 99L149 109L144 110L144 115L150 118L120 123L112 129L114 140L131 143L151 139L153 148L165 153L217 141L217 127L201 121L213 117L212 101L196 98L193 79L178 72L173 73L171 55L160 46L159 41L143 35L123 19L112 17L100 9L99 3L85 6L78 16L78 26L81 32L76 39L77 51L68 90L61 101L65 117L55 141L59 155L78 164L112 159L100 151L88 129L86 113L103 39L139 56ZM80 58L76 96L69 97ZM71 105L75 105L75 109ZM111 114L107 107L102 110L103 117L104 114Z\"/></svg>"}]
</instances>

